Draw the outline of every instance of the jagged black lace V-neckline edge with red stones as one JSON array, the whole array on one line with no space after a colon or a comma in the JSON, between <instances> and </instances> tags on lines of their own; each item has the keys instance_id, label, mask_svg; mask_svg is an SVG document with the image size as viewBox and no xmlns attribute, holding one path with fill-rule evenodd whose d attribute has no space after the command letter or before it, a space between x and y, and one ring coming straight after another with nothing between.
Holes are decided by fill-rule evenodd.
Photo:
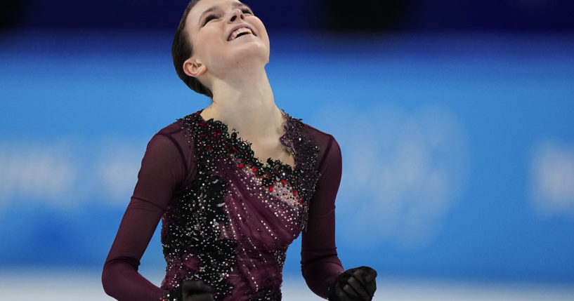
<instances>
[{"instance_id":1,"label":"jagged black lace V-neckline edge with red stones","mask_svg":"<svg viewBox=\"0 0 574 301\"><path fill-rule=\"evenodd\" d=\"M266 159L265 162L261 161L261 159L259 159L259 157L255 156L255 152L254 152L253 149L252 149L252 144L253 144L252 142L250 142L249 140L244 140L243 138L241 138L240 135L239 135L239 131L237 131L235 128L231 128L231 133L229 133L229 126L228 126L226 123L224 123L223 121L216 120L216 119L213 119L213 118L210 118L210 119L205 120L205 119L203 118L203 116L201 115L201 113L203 112L203 110L204 110L204 109L200 109L200 110L197 111L197 113L196 113L200 121L203 121L203 122L205 122L205 123L211 123L211 124L213 124L214 126L218 126L219 128L221 128L221 131L223 131L224 135L226 135L226 138L227 138L228 140L235 140L236 142L238 142L238 143L244 145L245 147L247 147L247 149L249 149L249 151L251 152L252 158L254 159L254 161L259 162L259 163L261 164L261 166L268 167L268 168L273 168L273 166L274 166L275 164L279 164L280 166L286 166L287 168L289 168L289 169L293 172L293 171L297 168L297 166L299 165L298 160L297 160L297 158L296 158L296 156L295 156L295 153L293 152L293 149L291 149L291 146L286 145L286 143L284 142L285 139L288 138L288 135L287 135L287 133L288 133L288 131L289 131L288 128L292 128L292 126L289 126L289 123L292 121L292 120L291 120L291 116L289 116L289 114L287 114L284 109L281 109L281 114L282 114L283 117L285 118L285 120L283 120L283 123L282 123L282 128L283 128L283 131L284 131L284 132L283 132L283 134L280 136L280 138L279 138L278 140L279 140L279 143L280 143L281 145L283 145L284 147L286 147L286 148L288 148L288 149L291 150L291 152L289 152L289 153L290 153L291 156L293 157L293 161L294 161L294 165L293 165L293 166L291 166L291 164L289 164L289 163L285 163L285 162L281 161L280 159L273 159L273 158L271 158L271 157L269 157L268 159ZM233 135L233 133L235 133L235 135ZM235 138L234 138L234 136L235 136ZM271 163L273 163L273 164L268 163L269 160L270 160Z\"/></svg>"}]
</instances>

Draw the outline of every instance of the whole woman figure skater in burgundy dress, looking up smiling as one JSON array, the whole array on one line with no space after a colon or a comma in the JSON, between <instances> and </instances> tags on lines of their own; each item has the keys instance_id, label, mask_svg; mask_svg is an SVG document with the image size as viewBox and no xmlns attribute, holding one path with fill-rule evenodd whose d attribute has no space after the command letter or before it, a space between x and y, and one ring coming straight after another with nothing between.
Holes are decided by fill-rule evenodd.
<instances>
[{"instance_id":1,"label":"whole woman figure skater in burgundy dress, looking up smiling","mask_svg":"<svg viewBox=\"0 0 574 301\"><path fill-rule=\"evenodd\" d=\"M263 22L237 0L191 1L174 37L178 76L213 101L150 140L103 268L120 301L281 300L287 247L328 300L372 300L377 272L344 270L335 247L341 149L275 105ZM305 69L301 69L305 72ZM160 287L138 273L162 220Z\"/></svg>"}]
</instances>

